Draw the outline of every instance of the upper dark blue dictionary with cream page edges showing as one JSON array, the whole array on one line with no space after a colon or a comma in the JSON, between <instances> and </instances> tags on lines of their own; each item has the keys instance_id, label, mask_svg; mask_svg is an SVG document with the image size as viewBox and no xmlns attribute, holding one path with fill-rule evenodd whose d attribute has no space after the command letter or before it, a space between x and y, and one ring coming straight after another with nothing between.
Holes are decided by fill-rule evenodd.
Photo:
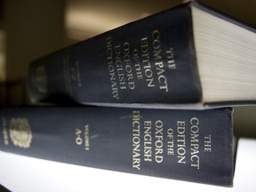
<instances>
[{"instance_id":1,"label":"upper dark blue dictionary with cream page edges showing","mask_svg":"<svg viewBox=\"0 0 256 192\"><path fill-rule=\"evenodd\" d=\"M30 98L151 108L253 104L255 31L204 4L181 4L34 60Z\"/></svg>"}]
</instances>

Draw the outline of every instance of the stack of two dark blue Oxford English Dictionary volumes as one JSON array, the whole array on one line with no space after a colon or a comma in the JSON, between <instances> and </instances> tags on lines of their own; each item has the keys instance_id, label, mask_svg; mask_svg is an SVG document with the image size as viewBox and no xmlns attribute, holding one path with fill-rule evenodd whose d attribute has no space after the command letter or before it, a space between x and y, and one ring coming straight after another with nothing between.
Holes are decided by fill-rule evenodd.
<instances>
[{"instance_id":1,"label":"stack of two dark blue Oxford English Dictionary volumes","mask_svg":"<svg viewBox=\"0 0 256 192\"><path fill-rule=\"evenodd\" d=\"M33 61L30 98L53 105L1 108L0 149L231 187L255 55L254 28L197 2L134 21Z\"/></svg>"}]
</instances>

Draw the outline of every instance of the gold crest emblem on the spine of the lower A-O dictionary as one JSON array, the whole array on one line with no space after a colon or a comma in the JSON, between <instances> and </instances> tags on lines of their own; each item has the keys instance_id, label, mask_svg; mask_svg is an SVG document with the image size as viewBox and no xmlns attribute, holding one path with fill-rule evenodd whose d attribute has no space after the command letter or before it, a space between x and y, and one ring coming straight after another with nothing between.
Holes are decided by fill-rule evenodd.
<instances>
[{"instance_id":1,"label":"gold crest emblem on the spine of the lower A-O dictionary","mask_svg":"<svg viewBox=\"0 0 256 192\"><path fill-rule=\"evenodd\" d=\"M32 132L27 118L12 118L10 123L10 138L14 146L30 148Z\"/></svg>"}]
</instances>

